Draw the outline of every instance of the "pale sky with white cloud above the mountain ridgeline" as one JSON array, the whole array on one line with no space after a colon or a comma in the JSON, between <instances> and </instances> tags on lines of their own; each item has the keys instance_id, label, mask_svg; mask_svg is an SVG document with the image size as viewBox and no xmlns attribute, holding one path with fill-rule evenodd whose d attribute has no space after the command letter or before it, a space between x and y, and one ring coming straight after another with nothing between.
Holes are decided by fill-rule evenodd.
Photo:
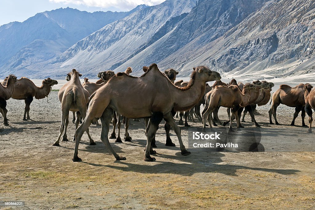
<instances>
[{"instance_id":1,"label":"pale sky with white cloud above the mountain ridgeline","mask_svg":"<svg viewBox=\"0 0 315 210\"><path fill-rule=\"evenodd\" d=\"M0 26L9 22L24 20L37 13L58 8L71 7L81 11L129 11L139 4L149 6L165 0L1 0Z\"/></svg>"}]
</instances>

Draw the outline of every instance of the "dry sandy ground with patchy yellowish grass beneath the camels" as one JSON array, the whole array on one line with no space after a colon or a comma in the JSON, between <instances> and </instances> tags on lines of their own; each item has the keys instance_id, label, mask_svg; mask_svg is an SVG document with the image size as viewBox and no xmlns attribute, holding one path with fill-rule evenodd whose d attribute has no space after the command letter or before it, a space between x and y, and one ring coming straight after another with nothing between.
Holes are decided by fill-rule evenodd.
<instances>
[{"instance_id":1,"label":"dry sandy ground with patchy yellowish grass beneath the camels","mask_svg":"<svg viewBox=\"0 0 315 210\"><path fill-rule=\"evenodd\" d=\"M92 125L96 141L90 146L83 135L79 145L82 162L72 162L74 142L52 146L59 134L61 111L57 92L31 104L28 122L22 121L24 101L8 100L10 126L0 125L0 201L25 201L24 207L2 209L314 209L314 134L289 126L293 108L280 106L278 121L269 125L268 106L259 107L256 120L265 152L217 152L193 149L181 156L176 147L165 146L163 124L157 132L156 162L144 162L146 136L143 122L130 121L132 142L114 143L126 161L116 161L100 141L100 128ZM220 110L226 119L226 109ZM3 118L1 117L2 121ZM176 119L178 121L178 119ZM256 128L249 116L246 129L228 134L242 139ZM70 120L71 122L71 120ZM183 127L188 133L200 122ZM306 120L306 124L308 124ZM69 124L68 138L74 133ZM124 133L124 132L122 132ZM123 136L123 135L122 135ZM245 138L245 137L244 137ZM256 137L255 137L256 138Z\"/></svg>"}]
</instances>

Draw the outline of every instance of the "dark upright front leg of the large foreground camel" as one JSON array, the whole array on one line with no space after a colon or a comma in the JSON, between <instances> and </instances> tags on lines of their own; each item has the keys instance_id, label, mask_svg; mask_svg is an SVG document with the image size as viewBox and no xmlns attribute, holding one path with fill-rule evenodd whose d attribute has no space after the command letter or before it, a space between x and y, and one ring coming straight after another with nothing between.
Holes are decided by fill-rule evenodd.
<instances>
[{"instance_id":1,"label":"dark upright front leg of the large foreground camel","mask_svg":"<svg viewBox=\"0 0 315 210\"><path fill-rule=\"evenodd\" d=\"M158 129L158 125L163 119L163 113L161 112L154 112L150 118L149 122L149 128L147 130L147 137L146 137L146 152L144 161L153 162L155 161L155 158L151 157L150 154L156 154L156 151L152 149L151 143L154 138L154 135Z\"/></svg>"}]
</instances>

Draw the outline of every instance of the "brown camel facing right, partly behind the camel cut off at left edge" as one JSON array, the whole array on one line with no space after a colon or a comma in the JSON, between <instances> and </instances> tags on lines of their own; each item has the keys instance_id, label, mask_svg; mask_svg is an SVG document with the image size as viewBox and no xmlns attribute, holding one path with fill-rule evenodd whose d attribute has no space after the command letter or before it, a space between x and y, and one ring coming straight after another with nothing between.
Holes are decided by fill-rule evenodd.
<instances>
[{"instance_id":1,"label":"brown camel facing right, partly behind the camel cut off at left edge","mask_svg":"<svg viewBox=\"0 0 315 210\"><path fill-rule=\"evenodd\" d=\"M2 84L6 84L6 79L4 79ZM58 84L58 82L50 78L44 79L41 87L37 87L34 82L26 77L22 77L15 82L14 92L11 98L25 100L25 111L23 117L24 121L31 119L29 112L33 97L35 97L35 99L43 99L45 97L48 98L52 87L56 84Z\"/></svg>"}]
</instances>

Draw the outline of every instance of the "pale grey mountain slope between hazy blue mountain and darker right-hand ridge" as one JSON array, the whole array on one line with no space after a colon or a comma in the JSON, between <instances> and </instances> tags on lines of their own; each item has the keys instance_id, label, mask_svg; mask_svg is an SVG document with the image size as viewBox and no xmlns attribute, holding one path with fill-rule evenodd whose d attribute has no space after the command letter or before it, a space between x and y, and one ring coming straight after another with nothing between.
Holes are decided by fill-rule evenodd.
<instances>
[{"instance_id":1,"label":"pale grey mountain slope between hazy blue mountain and darker right-hand ridge","mask_svg":"<svg viewBox=\"0 0 315 210\"><path fill-rule=\"evenodd\" d=\"M163 37L195 6L195 0L167 0L117 20L77 42L50 62L58 72L84 69L86 76L113 69Z\"/></svg>"}]
</instances>

